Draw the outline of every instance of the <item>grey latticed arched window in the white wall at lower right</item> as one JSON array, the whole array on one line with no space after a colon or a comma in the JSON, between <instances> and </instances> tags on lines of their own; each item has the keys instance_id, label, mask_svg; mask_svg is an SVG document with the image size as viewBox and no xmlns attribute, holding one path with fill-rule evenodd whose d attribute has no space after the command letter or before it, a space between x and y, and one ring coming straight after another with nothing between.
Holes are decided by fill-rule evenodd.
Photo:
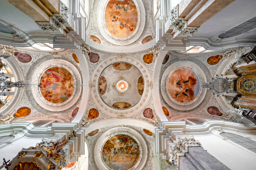
<instances>
[{"instance_id":1,"label":"grey latticed arched window in the white wall at lower right","mask_svg":"<svg viewBox=\"0 0 256 170\"><path fill-rule=\"evenodd\" d=\"M256 153L256 141L254 140L233 133L220 133L220 136Z\"/></svg>"}]
</instances>

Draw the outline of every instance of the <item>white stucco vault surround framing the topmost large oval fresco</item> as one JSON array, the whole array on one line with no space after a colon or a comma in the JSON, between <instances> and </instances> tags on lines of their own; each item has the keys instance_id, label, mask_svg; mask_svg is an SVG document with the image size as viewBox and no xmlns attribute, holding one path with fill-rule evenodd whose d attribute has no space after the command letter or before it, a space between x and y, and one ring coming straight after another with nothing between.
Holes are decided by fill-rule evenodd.
<instances>
[{"instance_id":1,"label":"white stucco vault surround framing the topmost large oval fresco","mask_svg":"<svg viewBox=\"0 0 256 170\"><path fill-rule=\"evenodd\" d=\"M134 33L126 38L113 38L105 26L105 20L97 22L98 18L104 18L103 13L105 13L105 5L107 3L103 0L94 0L90 3L91 13L89 19L89 27L87 28L87 37L96 36L100 39L101 44L108 46L133 46L142 44L144 37L151 35L154 37L154 21L152 19L152 10L151 10L151 1L142 0L134 1L137 5L138 10L138 25ZM102 5L98 5L102 3ZM100 13L97 13L97 10L100 10ZM101 14L102 13L102 14ZM113 18L113 17L112 17ZM117 18L113 18L114 23L117 22ZM115 21L116 20L116 21ZM120 24L120 23L119 23ZM123 24L123 23L122 23ZM144 26L145 25L145 26ZM103 36L102 33L105 35ZM109 37L108 37L109 36ZM107 39L106 39L107 38Z\"/></svg>"}]
</instances>

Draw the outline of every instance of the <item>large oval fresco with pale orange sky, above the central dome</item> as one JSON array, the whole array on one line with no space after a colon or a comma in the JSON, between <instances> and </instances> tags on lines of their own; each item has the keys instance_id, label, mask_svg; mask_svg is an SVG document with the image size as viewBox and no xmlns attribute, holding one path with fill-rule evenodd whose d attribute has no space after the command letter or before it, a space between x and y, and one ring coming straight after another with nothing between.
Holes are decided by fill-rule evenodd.
<instances>
[{"instance_id":1,"label":"large oval fresco with pale orange sky, above the central dome","mask_svg":"<svg viewBox=\"0 0 256 170\"><path fill-rule=\"evenodd\" d=\"M110 0L105 10L105 24L118 38L129 37L136 29L138 12L132 0Z\"/></svg>"}]
</instances>

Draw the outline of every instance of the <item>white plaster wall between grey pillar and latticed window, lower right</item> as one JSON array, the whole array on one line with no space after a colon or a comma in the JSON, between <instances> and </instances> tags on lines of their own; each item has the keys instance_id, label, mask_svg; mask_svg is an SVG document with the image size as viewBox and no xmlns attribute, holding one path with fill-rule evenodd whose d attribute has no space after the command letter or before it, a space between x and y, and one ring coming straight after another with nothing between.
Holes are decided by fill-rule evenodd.
<instances>
[{"instance_id":1,"label":"white plaster wall between grey pillar and latticed window, lower right","mask_svg":"<svg viewBox=\"0 0 256 170\"><path fill-rule=\"evenodd\" d=\"M200 141L202 147L208 153L220 160L231 170L255 170L256 154L253 155L247 152L246 148L239 148L214 134L207 136L194 135L194 137ZM256 140L256 135L246 135L246 137Z\"/></svg>"}]
</instances>

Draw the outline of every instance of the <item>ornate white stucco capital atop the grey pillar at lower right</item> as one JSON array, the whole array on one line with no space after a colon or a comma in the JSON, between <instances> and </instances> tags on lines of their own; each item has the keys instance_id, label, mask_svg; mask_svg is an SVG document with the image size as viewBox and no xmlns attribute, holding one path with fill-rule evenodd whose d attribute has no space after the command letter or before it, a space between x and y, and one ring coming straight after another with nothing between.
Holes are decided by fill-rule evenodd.
<instances>
[{"instance_id":1,"label":"ornate white stucco capital atop the grey pillar at lower right","mask_svg":"<svg viewBox=\"0 0 256 170\"><path fill-rule=\"evenodd\" d=\"M191 146L201 146L198 140L195 140L193 136L181 138L178 137L177 140L174 141L174 146L170 148L170 162L174 162L174 164L179 168L179 156L184 156L185 153L188 152L188 147Z\"/></svg>"}]
</instances>

